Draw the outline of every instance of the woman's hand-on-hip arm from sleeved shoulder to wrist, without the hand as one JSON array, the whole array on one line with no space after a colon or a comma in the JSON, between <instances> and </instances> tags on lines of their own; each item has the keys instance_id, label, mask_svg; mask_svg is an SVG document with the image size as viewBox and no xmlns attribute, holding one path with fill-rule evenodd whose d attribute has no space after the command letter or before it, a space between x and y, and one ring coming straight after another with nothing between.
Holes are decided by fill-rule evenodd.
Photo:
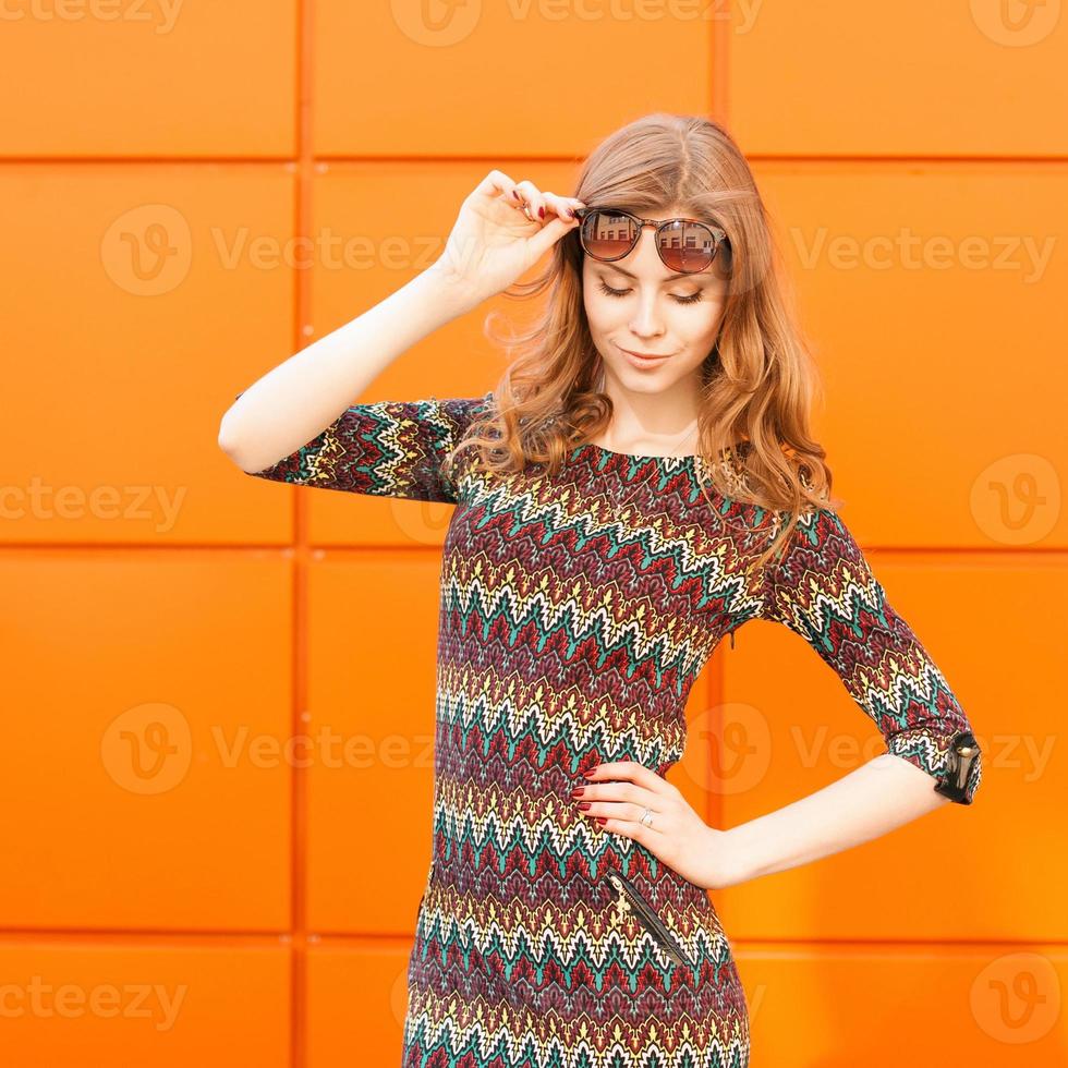
<instances>
[{"instance_id":1,"label":"woman's hand-on-hip arm from sleeved shoulder to wrist, without the hand","mask_svg":"<svg viewBox=\"0 0 1068 1068\"><path fill-rule=\"evenodd\" d=\"M815 510L794 535L765 572L762 615L801 635L838 673L888 752L725 832L738 881L859 845L950 801L970 805L982 778L964 709L842 518Z\"/></svg>"}]
</instances>

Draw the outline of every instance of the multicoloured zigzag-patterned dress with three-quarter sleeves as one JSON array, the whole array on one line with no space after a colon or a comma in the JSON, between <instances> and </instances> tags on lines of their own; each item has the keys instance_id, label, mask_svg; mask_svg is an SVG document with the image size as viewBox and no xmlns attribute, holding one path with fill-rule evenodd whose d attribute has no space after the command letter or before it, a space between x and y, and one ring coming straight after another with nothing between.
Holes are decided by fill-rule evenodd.
<instances>
[{"instance_id":1,"label":"multicoloured zigzag-patterned dress with three-quarter sleeves","mask_svg":"<svg viewBox=\"0 0 1068 1068\"><path fill-rule=\"evenodd\" d=\"M549 477L445 454L482 398L357 404L257 477L456 505L441 561L433 861L404 1068L744 1068L749 1015L707 893L578 811L602 761L664 775L713 650L800 634L890 753L970 804L981 762L942 672L830 510L755 569L769 513L694 457L581 445Z\"/></svg>"}]
</instances>

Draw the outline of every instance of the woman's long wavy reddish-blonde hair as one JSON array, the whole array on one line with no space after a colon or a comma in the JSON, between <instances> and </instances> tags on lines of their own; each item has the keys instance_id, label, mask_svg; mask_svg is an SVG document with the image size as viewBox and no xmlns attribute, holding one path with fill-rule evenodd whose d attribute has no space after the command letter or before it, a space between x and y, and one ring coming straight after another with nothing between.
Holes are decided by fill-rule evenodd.
<instances>
[{"instance_id":1,"label":"woman's long wavy reddish-blonde hair","mask_svg":"<svg viewBox=\"0 0 1068 1068\"><path fill-rule=\"evenodd\" d=\"M727 295L717 343L702 366L697 456L721 495L770 513L768 529L778 536L755 561L763 565L804 511L830 503L832 474L810 430L822 387L749 163L712 119L656 112L597 145L573 195L642 216L678 210L727 232ZM514 472L534 462L553 474L577 444L610 423L612 403L598 388L602 357L582 301L583 255L575 228L553 246L541 275L506 290L518 299L548 292L529 330L495 338L518 355L489 411L448 462L472 447L484 470Z\"/></svg>"}]
</instances>

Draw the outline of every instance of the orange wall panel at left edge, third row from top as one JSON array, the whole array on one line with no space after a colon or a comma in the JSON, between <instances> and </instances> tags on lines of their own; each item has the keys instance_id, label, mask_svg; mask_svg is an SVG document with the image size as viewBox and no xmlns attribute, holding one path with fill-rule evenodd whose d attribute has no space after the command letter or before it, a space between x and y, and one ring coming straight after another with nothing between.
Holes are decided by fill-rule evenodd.
<instances>
[{"instance_id":1,"label":"orange wall panel at left edge, third row from top","mask_svg":"<svg viewBox=\"0 0 1068 1068\"><path fill-rule=\"evenodd\" d=\"M0 555L5 926L288 929L290 569Z\"/></svg>"}]
</instances>

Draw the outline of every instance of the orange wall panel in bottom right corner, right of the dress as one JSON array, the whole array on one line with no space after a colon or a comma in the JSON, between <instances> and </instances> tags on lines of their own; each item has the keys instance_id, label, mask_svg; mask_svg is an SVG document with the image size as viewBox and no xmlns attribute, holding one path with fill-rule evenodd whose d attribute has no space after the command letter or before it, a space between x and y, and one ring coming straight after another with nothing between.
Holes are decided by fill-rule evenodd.
<instances>
[{"instance_id":1,"label":"orange wall panel in bottom right corner, right of the dress","mask_svg":"<svg viewBox=\"0 0 1068 1068\"><path fill-rule=\"evenodd\" d=\"M747 948L753 1065L1064 1064L1061 946Z\"/></svg>"}]
</instances>

